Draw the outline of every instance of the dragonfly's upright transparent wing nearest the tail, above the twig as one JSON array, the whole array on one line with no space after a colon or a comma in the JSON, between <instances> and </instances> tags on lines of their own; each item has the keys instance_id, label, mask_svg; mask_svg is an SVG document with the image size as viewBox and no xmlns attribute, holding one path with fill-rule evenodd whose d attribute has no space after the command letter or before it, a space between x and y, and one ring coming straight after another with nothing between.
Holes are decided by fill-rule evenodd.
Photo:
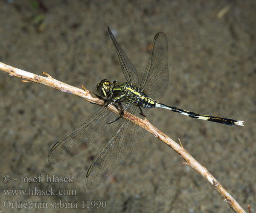
<instances>
[{"instance_id":1,"label":"dragonfly's upright transparent wing nearest the tail, above the twig","mask_svg":"<svg viewBox=\"0 0 256 213\"><path fill-rule=\"evenodd\" d=\"M168 84L168 46L163 32L155 35L148 66L140 88L154 100L161 98Z\"/></svg>"}]
</instances>

